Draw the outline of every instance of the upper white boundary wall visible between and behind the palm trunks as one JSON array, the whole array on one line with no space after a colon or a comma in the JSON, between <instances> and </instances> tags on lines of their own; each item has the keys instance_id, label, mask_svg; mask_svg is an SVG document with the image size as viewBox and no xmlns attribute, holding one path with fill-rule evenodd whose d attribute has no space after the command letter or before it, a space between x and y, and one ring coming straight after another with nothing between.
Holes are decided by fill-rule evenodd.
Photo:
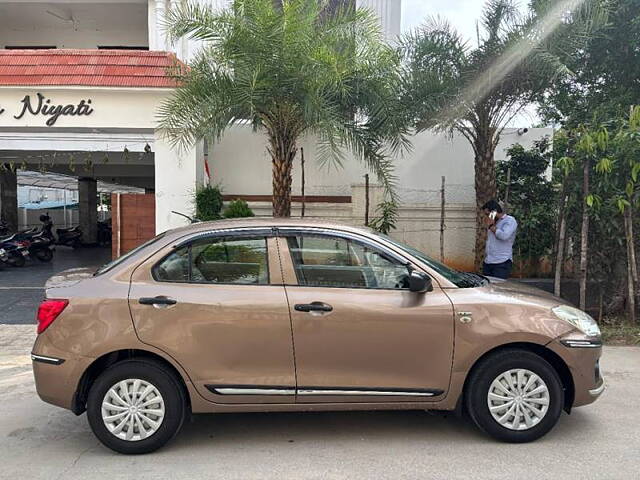
<instances>
[{"instance_id":1,"label":"upper white boundary wall visible between and behind the palm trunks","mask_svg":"<svg viewBox=\"0 0 640 480\"><path fill-rule=\"evenodd\" d=\"M506 159L506 150L515 143L525 148L544 136L549 128L534 128L519 135L516 129L507 129L496 150L498 161ZM398 191L404 203L439 202L441 177L451 186L449 201L475 203L473 151L460 135L423 132L412 139L413 149L395 159ZM321 164L315 141L305 139L300 144L305 151L306 193L308 195L351 195L351 185L363 182L366 168L346 154L342 166ZM209 165L214 183L220 183L227 194L271 194L271 160L266 141L260 132L250 126L230 129L222 141L210 149ZM300 193L300 157L294 164L294 195ZM371 182L376 179L371 175ZM454 188L455 186L455 188Z\"/></svg>"}]
</instances>

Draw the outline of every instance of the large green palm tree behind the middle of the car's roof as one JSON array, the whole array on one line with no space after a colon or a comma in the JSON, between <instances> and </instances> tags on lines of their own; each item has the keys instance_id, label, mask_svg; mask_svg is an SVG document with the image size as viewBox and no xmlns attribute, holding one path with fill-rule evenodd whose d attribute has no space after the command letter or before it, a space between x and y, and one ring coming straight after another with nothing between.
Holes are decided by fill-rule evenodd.
<instances>
[{"instance_id":1,"label":"large green palm tree behind the middle of the car's roof","mask_svg":"<svg viewBox=\"0 0 640 480\"><path fill-rule=\"evenodd\" d=\"M170 38L205 46L163 104L160 127L177 147L218 141L235 124L263 132L274 216L291 213L292 164L307 135L317 139L321 162L340 164L350 152L393 197L388 154L408 145L399 57L377 18L354 3L235 0L223 10L179 3L167 14Z\"/></svg>"}]
</instances>

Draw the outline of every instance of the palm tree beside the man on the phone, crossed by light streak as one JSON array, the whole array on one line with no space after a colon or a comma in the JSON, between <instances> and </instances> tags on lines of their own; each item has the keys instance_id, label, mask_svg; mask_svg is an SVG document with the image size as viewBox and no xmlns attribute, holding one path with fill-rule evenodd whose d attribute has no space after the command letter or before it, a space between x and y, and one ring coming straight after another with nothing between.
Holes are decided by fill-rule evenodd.
<instances>
[{"instance_id":1,"label":"palm tree beside the man on the phone, crossed by light streak","mask_svg":"<svg viewBox=\"0 0 640 480\"><path fill-rule=\"evenodd\" d=\"M488 0L470 47L449 23L430 18L401 42L406 108L420 130L457 131L474 153L476 267L486 228L481 206L496 197L494 153L509 122L561 76L606 20L599 0Z\"/></svg>"}]
</instances>

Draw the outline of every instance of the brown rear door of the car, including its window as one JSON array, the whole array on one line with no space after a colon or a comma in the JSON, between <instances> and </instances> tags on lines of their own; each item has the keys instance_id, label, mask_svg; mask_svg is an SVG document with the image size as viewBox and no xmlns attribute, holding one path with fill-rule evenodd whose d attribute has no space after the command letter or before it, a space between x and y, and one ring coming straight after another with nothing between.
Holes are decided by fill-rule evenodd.
<instances>
[{"instance_id":1,"label":"brown rear door of the car, including its window","mask_svg":"<svg viewBox=\"0 0 640 480\"><path fill-rule=\"evenodd\" d=\"M173 357L217 403L293 403L291 324L267 231L198 235L132 275L139 338Z\"/></svg>"}]
</instances>

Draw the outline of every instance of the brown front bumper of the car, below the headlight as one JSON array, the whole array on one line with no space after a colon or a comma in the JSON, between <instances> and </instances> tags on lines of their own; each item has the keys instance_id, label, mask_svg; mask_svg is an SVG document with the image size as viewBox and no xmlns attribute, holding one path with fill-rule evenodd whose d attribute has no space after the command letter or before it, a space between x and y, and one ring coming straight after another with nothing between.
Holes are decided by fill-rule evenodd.
<instances>
[{"instance_id":1,"label":"brown front bumper of the car, below the headlight","mask_svg":"<svg viewBox=\"0 0 640 480\"><path fill-rule=\"evenodd\" d=\"M606 389L600 373L602 342L573 331L551 342L547 347L564 360L573 378L572 407L595 402Z\"/></svg>"}]
</instances>

